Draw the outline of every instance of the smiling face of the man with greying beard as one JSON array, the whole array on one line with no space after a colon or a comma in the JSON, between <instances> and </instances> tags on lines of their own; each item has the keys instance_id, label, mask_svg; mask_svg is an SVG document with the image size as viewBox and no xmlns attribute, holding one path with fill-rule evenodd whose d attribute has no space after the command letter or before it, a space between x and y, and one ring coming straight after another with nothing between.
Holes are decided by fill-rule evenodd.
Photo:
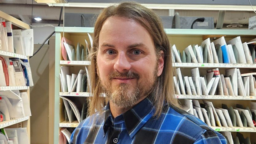
<instances>
[{"instance_id":1,"label":"smiling face of the man with greying beard","mask_svg":"<svg viewBox=\"0 0 256 144\"><path fill-rule=\"evenodd\" d=\"M132 20L109 17L100 31L97 73L109 101L131 107L148 95L163 70L148 31Z\"/></svg>"}]
</instances>

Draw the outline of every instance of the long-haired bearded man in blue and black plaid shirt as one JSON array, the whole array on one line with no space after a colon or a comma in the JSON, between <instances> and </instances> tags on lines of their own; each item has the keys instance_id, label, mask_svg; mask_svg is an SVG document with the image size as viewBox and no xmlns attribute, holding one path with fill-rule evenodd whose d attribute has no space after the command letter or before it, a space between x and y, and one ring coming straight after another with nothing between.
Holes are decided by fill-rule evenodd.
<instances>
[{"instance_id":1,"label":"long-haired bearded man in blue and black plaid shirt","mask_svg":"<svg viewBox=\"0 0 256 144\"><path fill-rule=\"evenodd\" d=\"M171 45L151 9L134 2L105 8L95 23L89 70L90 116L72 133L71 144L226 143L180 109Z\"/></svg>"}]
</instances>

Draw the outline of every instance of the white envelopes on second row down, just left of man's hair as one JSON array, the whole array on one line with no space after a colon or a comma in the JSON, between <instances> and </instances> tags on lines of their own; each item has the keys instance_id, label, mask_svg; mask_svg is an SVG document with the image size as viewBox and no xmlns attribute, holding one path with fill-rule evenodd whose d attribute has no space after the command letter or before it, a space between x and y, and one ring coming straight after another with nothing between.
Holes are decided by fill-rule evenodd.
<instances>
[{"instance_id":1,"label":"white envelopes on second row down, just left of man's hair","mask_svg":"<svg viewBox=\"0 0 256 144\"><path fill-rule=\"evenodd\" d=\"M69 67L60 67L61 92L88 92L87 80L89 79L88 68L86 72L80 69L78 74L70 74Z\"/></svg>"}]
</instances>

